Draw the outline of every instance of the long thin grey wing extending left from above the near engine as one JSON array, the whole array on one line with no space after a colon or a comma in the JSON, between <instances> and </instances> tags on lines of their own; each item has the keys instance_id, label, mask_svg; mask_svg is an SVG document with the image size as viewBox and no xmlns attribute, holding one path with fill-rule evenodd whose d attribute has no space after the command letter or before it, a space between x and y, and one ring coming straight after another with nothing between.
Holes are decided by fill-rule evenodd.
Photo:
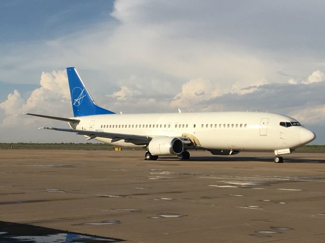
<instances>
[{"instance_id":1,"label":"long thin grey wing extending left from above the near engine","mask_svg":"<svg viewBox=\"0 0 325 243\"><path fill-rule=\"evenodd\" d=\"M95 132L95 131L87 131L87 130L75 130L75 129L64 129L64 128L39 128L39 129L49 129L54 131L61 131L61 132L71 132L76 133L79 135L89 136L90 139L95 137L100 138L120 138L120 139L135 139L135 140L144 140L149 141L151 138L148 136L140 136L140 135L132 135L132 134L120 134L120 133L105 133L105 132Z\"/></svg>"}]
</instances>

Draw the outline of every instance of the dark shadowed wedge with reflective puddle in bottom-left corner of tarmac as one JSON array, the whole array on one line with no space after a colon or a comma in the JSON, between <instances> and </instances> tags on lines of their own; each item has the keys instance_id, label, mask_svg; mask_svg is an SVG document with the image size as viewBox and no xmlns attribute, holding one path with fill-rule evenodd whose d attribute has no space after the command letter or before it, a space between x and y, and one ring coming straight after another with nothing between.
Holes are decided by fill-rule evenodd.
<instances>
[{"instance_id":1,"label":"dark shadowed wedge with reflective puddle in bottom-left corner of tarmac","mask_svg":"<svg viewBox=\"0 0 325 243\"><path fill-rule=\"evenodd\" d=\"M17 224L0 221L0 242L53 243L53 242L83 242L103 243L119 242L122 239L81 234L64 230L56 230L40 226Z\"/></svg>"}]
</instances>

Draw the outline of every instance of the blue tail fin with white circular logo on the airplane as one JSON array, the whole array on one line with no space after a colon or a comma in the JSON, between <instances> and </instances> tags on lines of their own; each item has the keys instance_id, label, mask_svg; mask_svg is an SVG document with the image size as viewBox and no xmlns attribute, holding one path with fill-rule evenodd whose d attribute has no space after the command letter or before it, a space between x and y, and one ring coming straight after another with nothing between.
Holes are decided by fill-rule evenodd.
<instances>
[{"instance_id":1,"label":"blue tail fin with white circular logo on the airplane","mask_svg":"<svg viewBox=\"0 0 325 243\"><path fill-rule=\"evenodd\" d=\"M115 114L113 111L96 105L76 68L67 67L67 74L74 116Z\"/></svg>"}]
</instances>

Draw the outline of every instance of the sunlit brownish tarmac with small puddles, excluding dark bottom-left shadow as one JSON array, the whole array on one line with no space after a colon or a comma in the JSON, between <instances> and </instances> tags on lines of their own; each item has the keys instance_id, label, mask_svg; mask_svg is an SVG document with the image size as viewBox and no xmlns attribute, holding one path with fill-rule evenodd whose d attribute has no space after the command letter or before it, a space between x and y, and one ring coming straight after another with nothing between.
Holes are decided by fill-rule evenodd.
<instances>
[{"instance_id":1,"label":"sunlit brownish tarmac with small puddles, excluding dark bottom-left shadow","mask_svg":"<svg viewBox=\"0 0 325 243\"><path fill-rule=\"evenodd\" d=\"M0 221L125 242L324 242L325 153L273 156L0 150Z\"/></svg>"}]
</instances>

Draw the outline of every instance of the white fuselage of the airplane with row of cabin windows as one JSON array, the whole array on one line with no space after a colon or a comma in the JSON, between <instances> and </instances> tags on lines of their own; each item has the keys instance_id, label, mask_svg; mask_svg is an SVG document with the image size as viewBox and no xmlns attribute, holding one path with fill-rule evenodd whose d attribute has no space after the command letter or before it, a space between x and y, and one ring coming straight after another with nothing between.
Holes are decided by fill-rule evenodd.
<instances>
[{"instance_id":1,"label":"white fuselage of the airplane with row of cabin windows","mask_svg":"<svg viewBox=\"0 0 325 243\"><path fill-rule=\"evenodd\" d=\"M274 151L294 149L314 139L303 126L280 126L294 118L262 112L207 112L163 114L104 114L77 117L77 130L90 130L149 137L191 137L196 149ZM138 147L133 143L95 138L115 146ZM190 149L190 148L189 148Z\"/></svg>"}]
</instances>

